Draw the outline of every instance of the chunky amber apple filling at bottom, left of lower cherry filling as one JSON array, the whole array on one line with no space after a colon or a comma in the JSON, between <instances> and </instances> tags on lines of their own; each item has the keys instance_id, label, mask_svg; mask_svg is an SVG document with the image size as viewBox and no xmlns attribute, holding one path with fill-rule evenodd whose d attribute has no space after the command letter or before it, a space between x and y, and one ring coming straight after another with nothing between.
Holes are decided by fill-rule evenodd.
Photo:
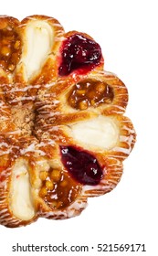
<instances>
[{"instance_id":1,"label":"chunky amber apple filling at bottom, left of lower cherry filling","mask_svg":"<svg viewBox=\"0 0 158 256\"><path fill-rule=\"evenodd\" d=\"M59 169L41 171L39 177L42 181L39 197L52 209L66 208L79 196L79 184Z\"/></svg>"}]
</instances>

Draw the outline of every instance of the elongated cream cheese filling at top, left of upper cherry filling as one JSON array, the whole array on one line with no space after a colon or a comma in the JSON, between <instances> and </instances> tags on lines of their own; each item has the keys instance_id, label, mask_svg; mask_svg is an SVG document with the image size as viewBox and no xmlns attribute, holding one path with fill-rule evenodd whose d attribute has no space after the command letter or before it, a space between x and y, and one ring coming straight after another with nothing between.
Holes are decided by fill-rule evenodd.
<instances>
[{"instance_id":1,"label":"elongated cream cheese filling at top, left of upper cherry filling","mask_svg":"<svg viewBox=\"0 0 158 256\"><path fill-rule=\"evenodd\" d=\"M26 42L22 62L26 67L27 79L42 68L53 44L53 31L45 21L31 21L26 27Z\"/></svg>"}]
</instances>

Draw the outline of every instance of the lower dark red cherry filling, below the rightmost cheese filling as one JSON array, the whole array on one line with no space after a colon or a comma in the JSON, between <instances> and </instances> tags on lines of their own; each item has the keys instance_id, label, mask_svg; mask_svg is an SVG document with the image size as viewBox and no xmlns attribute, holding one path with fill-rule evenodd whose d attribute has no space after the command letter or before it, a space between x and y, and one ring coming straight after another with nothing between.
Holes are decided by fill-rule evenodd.
<instances>
[{"instance_id":1,"label":"lower dark red cherry filling, below the rightmost cheese filling","mask_svg":"<svg viewBox=\"0 0 158 256\"><path fill-rule=\"evenodd\" d=\"M97 159L73 146L60 146L61 160L70 176L83 185L98 185L103 176Z\"/></svg>"}]
</instances>

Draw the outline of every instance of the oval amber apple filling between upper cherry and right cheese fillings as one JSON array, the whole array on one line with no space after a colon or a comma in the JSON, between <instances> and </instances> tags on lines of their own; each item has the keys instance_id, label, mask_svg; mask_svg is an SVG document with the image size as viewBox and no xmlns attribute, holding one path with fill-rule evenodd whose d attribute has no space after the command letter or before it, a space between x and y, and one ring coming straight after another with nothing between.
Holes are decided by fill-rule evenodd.
<instances>
[{"instance_id":1,"label":"oval amber apple filling between upper cherry and right cheese fillings","mask_svg":"<svg viewBox=\"0 0 158 256\"><path fill-rule=\"evenodd\" d=\"M69 92L68 103L77 110L87 110L90 106L110 104L114 92L110 85L100 80L82 80Z\"/></svg>"}]
</instances>

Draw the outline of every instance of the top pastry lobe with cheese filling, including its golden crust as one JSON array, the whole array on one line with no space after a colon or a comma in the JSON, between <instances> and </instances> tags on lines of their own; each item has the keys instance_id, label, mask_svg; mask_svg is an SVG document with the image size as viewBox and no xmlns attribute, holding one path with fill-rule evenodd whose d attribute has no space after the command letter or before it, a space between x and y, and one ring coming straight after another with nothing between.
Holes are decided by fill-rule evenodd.
<instances>
[{"instance_id":1,"label":"top pastry lobe with cheese filling, including its golden crust","mask_svg":"<svg viewBox=\"0 0 158 256\"><path fill-rule=\"evenodd\" d=\"M16 67L16 79L37 82L53 81L58 76L55 61L64 34L58 20L47 16L29 16L19 25L23 51Z\"/></svg>"}]
</instances>

